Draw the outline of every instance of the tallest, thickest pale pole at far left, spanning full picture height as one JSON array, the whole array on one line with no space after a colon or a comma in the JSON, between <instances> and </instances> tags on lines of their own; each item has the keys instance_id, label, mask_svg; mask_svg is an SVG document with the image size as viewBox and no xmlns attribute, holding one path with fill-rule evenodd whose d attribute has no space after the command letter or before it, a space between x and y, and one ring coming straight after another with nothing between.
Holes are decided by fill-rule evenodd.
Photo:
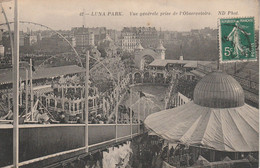
<instances>
[{"instance_id":1,"label":"tallest, thickest pale pole at far left, spanning full picture height","mask_svg":"<svg viewBox=\"0 0 260 168\"><path fill-rule=\"evenodd\" d=\"M14 61L13 61L13 165L19 167L19 14L14 1Z\"/></svg>"}]
</instances>

